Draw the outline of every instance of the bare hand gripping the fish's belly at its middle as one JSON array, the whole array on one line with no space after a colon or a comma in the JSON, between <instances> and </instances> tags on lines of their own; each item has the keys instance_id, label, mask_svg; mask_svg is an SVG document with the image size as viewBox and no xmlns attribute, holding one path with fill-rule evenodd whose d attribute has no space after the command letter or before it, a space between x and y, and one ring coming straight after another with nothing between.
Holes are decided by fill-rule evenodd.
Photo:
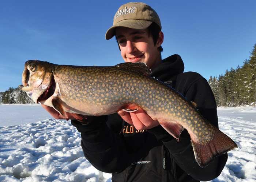
<instances>
[{"instance_id":1,"label":"bare hand gripping the fish's belly at its middle","mask_svg":"<svg viewBox=\"0 0 256 182\"><path fill-rule=\"evenodd\" d=\"M138 108L135 112L125 112L120 110L118 115L127 123L134 126L137 130L148 130L159 125L157 120L153 120L142 108Z\"/></svg>"}]
</instances>

